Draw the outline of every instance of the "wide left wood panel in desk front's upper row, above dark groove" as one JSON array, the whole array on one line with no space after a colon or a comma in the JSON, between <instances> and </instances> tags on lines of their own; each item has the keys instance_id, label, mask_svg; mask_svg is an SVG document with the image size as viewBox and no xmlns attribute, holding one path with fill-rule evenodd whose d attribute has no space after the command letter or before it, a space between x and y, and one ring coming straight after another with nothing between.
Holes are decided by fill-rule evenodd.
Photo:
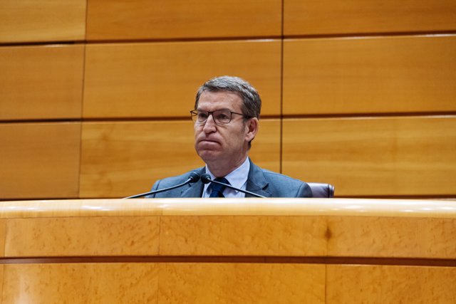
<instances>
[{"instance_id":1,"label":"wide left wood panel in desk front's upper row, above dark groove","mask_svg":"<svg viewBox=\"0 0 456 304\"><path fill-rule=\"evenodd\" d=\"M5 256L152 256L157 216L9 219Z\"/></svg>"}]
</instances>

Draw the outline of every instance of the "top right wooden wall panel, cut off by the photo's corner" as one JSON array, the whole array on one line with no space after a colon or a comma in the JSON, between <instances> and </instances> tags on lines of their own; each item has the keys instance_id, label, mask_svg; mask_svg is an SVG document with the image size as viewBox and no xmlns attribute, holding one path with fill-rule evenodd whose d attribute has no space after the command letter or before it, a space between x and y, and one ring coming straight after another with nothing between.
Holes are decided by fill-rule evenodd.
<instances>
[{"instance_id":1,"label":"top right wooden wall panel, cut off by the photo's corner","mask_svg":"<svg viewBox=\"0 0 456 304\"><path fill-rule=\"evenodd\" d=\"M285 0L284 34L454 31L453 0Z\"/></svg>"}]
</instances>

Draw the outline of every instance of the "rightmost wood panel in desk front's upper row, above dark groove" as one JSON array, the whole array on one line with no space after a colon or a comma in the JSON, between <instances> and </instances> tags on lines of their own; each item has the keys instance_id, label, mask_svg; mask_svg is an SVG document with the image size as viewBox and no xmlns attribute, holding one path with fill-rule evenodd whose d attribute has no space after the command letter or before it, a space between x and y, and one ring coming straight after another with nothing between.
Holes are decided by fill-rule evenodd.
<instances>
[{"instance_id":1,"label":"rightmost wood panel in desk front's upper row, above dark groove","mask_svg":"<svg viewBox=\"0 0 456 304\"><path fill-rule=\"evenodd\" d=\"M328 256L456 258L456 219L328 216L328 231Z\"/></svg>"}]
</instances>

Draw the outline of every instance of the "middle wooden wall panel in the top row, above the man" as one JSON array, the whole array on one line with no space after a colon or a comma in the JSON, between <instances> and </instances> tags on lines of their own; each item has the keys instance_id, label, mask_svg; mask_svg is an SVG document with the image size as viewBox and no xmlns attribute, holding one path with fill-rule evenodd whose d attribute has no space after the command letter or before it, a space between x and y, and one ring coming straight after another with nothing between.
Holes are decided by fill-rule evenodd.
<instances>
[{"instance_id":1,"label":"middle wooden wall panel in the top row, above the man","mask_svg":"<svg viewBox=\"0 0 456 304\"><path fill-rule=\"evenodd\" d=\"M89 40L280 34L280 0L88 1Z\"/></svg>"}]
</instances>

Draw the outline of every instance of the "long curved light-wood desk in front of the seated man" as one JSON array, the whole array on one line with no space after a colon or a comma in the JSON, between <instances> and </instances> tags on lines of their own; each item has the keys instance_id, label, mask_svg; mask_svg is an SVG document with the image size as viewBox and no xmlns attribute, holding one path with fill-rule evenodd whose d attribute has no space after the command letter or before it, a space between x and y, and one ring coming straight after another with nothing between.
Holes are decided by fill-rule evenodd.
<instances>
[{"instance_id":1,"label":"long curved light-wood desk in front of the seated man","mask_svg":"<svg viewBox=\"0 0 456 304\"><path fill-rule=\"evenodd\" d=\"M456 201L0 206L2 303L456 303Z\"/></svg>"}]
</instances>

